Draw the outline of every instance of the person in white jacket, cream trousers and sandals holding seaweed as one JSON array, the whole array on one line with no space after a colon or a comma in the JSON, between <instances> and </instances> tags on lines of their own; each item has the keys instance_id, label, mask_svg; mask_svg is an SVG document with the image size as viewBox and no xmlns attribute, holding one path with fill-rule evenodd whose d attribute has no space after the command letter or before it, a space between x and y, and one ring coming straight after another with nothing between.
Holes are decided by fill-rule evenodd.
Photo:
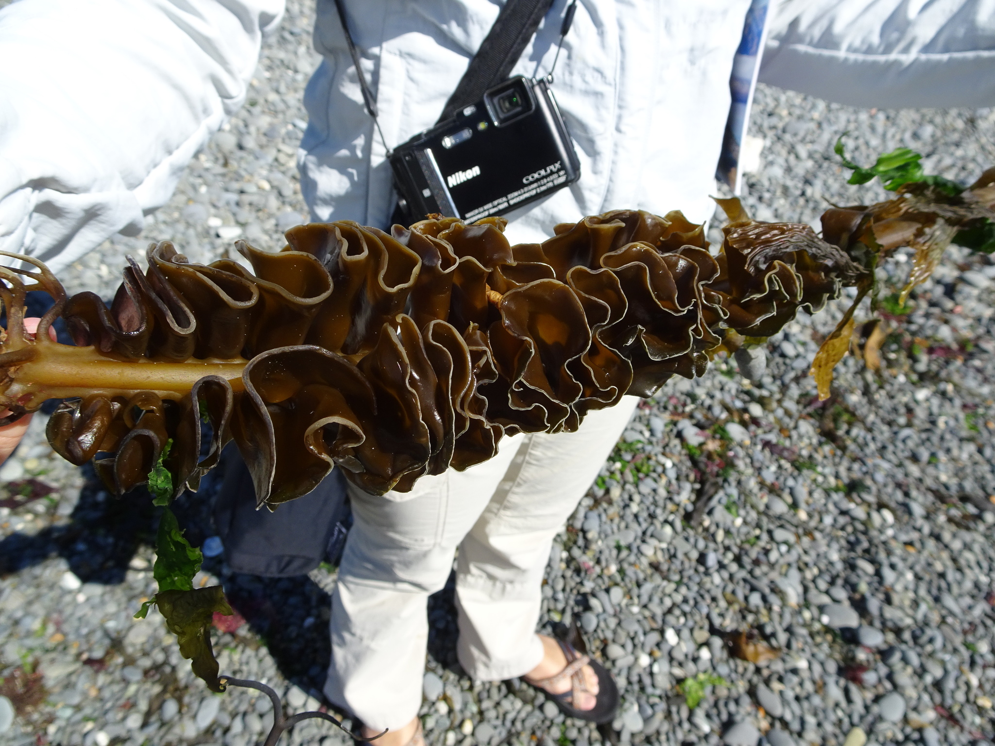
<instances>
[{"instance_id":1,"label":"person in white jacket, cream trousers and sandals holding seaweed","mask_svg":"<svg viewBox=\"0 0 995 746\"><path fill-rule=\"evenodd\" d=\"M439 117L502 4L344 5L355 56L331 0L317 5L324 59L305 98L302 190L314 221L387 227L388 150ZM508 73L548 73L567 7L535 4L537 28ZM621 208L678 208L703 223L749 8L577 3L554 90L581 177L507 215L511 242L537 243L557 224ZM242 104L261 40L282 12L280 0L20 0L0 11L0 250L58 271L114 232L138 232ZM761 80L775 85L880 107L995 102L995 19L983 2L912 12L898 0L787 0L768 23ZM611 719L617 689L607 672L535 625L552 538L635 405L626 397L573 433L505 438L494 459L407 492L350 489L355 525L332 602L325 692L363 721L365 735L389 728L377 743L423 742L426 599L446 582L457 548L458 651L468 673L523 676L573 716Z\"/></svg>"}]
</instances>

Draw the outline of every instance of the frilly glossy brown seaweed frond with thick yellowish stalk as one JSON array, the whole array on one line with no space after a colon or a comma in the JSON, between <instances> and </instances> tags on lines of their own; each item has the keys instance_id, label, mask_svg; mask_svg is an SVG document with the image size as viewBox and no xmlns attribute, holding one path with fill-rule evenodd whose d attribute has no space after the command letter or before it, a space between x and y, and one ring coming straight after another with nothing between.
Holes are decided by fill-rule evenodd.
<instances>
[{"instance_id":1,"label":"frilly glossy brown seaweed frond with thick yellowish stalk","mask_svg":"<svg viewBox=\"0 0 995 746\"><path fill-rule=\"evenodd\" d=\"M808 226L745 218L717 257L679 212L592 216L542 244L510 246L503 228L298 226L278 253L236 244L255 274L190 264L163 242L145 272L128 261L109 308L92 292L65 299L37 262L28 287L4 270L2 403L17 416L76 397L49 440L74 464L95 460L118 493L170 439L177 493L232 439L260 504L332 466L368 492L404 491L487 461L505 435L574 431L624 394L701 375L726 329L774 333L856 272ZM24 333L32 288L56 296L44 324L61 313L76 347Z\"/></svg>"}]
</instances>

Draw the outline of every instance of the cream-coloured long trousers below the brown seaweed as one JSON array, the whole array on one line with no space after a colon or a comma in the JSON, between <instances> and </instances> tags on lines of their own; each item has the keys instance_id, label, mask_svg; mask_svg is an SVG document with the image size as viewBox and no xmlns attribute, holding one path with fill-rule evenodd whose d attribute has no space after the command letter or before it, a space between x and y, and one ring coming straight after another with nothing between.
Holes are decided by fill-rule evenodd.
<instances>
[{"instance_id":1,"label":"cream-coloured long trousers below the brown seaweed","mask_svg":"<svg viewBox=\"0 0 995 746\"><path fill-rule=\"evenodd\" d=\"M354 523L331 601L325 693L374 728L418 714L427 601L457 562L460 664L478 680L520 676L535 637L553 536L605 463L636 403L593 412L576 433L518 435L491 461L382 497L350 485Z\"/></svg>"}]
</instances>

